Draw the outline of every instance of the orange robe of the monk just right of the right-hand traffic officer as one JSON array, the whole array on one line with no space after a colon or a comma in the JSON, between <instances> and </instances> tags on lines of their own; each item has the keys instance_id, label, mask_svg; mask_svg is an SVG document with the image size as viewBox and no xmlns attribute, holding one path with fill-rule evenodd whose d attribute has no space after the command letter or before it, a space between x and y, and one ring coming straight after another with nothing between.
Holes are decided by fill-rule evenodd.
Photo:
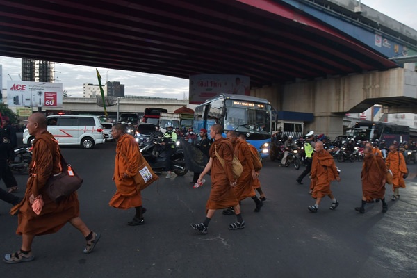
<instances>
[{"instance_id":1,"label":"orange robe of the monk just right of the right-hand traffic officer","mask_svg":"<svg viewBox=\"0 0 417 278\"><path fill-rule=\"evenodd\" d=\"M329 152L316 152L311 163L311 185L313 198L322 198L332 194L330 182L338 177L336 164Z\"/></svg>"}]
</instances>

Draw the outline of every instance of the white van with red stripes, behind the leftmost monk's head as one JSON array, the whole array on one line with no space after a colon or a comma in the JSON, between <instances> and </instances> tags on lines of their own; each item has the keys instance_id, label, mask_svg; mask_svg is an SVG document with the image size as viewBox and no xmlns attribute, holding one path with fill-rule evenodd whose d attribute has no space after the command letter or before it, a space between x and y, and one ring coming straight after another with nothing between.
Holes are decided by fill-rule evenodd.
<instances>
[{"instance_id":1,"label":"white van with red stripes, behind the leftmost monk's head","mask_svg":"<svg viewBox=\"0 0 417 278\"><path fill-rule=\"evenodd\" d=\"M98 116L88 115L51 115L47 117L48 131L59 145L81 145L91 149L96 144L103 144L104 134ZM24 129L23 143L33 145L35 138Z\"/></svg>"}]
</instances>

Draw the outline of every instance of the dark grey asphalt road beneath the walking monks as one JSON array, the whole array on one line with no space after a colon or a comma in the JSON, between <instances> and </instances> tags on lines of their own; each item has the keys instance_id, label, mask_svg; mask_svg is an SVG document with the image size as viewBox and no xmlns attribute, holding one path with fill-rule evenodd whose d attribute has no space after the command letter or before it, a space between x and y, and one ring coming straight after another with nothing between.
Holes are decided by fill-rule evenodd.
<instances>
[{"instance_id":1,"label":"dark grey asphalt road beneath the walking monks","mask_svg":"<svg viewBox=\"0 0 417 278\"><path fill-rule=\"evenodd\" d=\"M361 203L362 163L337 163L342 181L332 190L340 206L330 211L331 202L324 199L318 213L310 213L307 206L314 200L308 178L299 185L295 178L301 170L265 161L261 183L268 199L261 212L254 213L254 202L246 199L245 229L229 231L236 218L218 211L208 234L201 235L190 223L204 220L209 178L195 189L191 172L173 179L162 175L142 192L145 225L129 227L133 209L108 206L115 192L115 143L62 151L84 178L81 218L101 233L101 240L94 252L83 254L83 237L67 224L56 234L35 238L35 261L0 262L1 277L417 277L417 165L409 165L407 188L398 201L388 201L387 213L378 203L359 214L354 207ZM16 177L22 196L26 177ZM1 256L21 244L9 208L0 202Z\"/></svg>"}]
</instances>

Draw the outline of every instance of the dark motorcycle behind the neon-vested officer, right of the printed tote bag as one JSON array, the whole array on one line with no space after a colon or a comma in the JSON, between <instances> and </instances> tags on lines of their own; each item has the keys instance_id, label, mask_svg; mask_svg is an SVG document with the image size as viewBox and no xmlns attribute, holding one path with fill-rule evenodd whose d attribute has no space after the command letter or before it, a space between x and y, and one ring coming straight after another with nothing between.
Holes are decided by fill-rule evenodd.
<instances>
[{"instance_id":1,"label":"dark motorcycle behind the neon-vested officer, right of the printed tote bag","mask_svg":"<svg viewBox=\"0 0 417 278\"><path fill-rule=\"evenodd\" d=\"M149 145L143 145L140 149L140 153L146 159L147 163L152 167L154 171L165 171L165 154L166 152L161 149L161 152L158 153L158 156L154 153L154 148L156 146L155 142L151 142ZM177 176L183 176L187 174L188 169L186 168L186 161L184 160L184 153L182 149L176 149L176 152L171 156L172 167Z\"/></svg>"}]
</instances>

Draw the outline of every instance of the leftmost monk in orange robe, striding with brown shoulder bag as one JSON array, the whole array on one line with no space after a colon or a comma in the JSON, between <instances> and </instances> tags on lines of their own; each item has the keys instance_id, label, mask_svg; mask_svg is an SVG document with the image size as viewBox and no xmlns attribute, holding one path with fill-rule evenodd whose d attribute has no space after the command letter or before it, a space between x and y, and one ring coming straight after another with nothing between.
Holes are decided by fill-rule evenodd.
<instances>
[{"instance_id":1,"label":"leftmost monk in orange robe, striding with brown shoulder bag","mask_svg":"<svg viewBox=\"0 0 417 278\"><path fill-rule=\"evenodd\" d=\"M26 183L26 192L22 202L12 208L10 214L18 213L18 226L16 234L22 235L22 247L14 254L6 254L5 263L21 263L33 261L35 256L31 246L35 236L53 234L64 227L67 222L79 229L87 247L84 253L90 253L100 239L100 234L92 232L79 217L79 200L77 193L60 202L52 201L44 193L44 186L49 177L62 171L67 171L65 165L60 165L60 151L58 142L47 131L47 118L43 113L33 113L28 117L27 129L35 136L33 156L29 167L29 178ZM35 199L42 199L44 205L37 215L32 208Z\"/></svg>"}]
</instances>

